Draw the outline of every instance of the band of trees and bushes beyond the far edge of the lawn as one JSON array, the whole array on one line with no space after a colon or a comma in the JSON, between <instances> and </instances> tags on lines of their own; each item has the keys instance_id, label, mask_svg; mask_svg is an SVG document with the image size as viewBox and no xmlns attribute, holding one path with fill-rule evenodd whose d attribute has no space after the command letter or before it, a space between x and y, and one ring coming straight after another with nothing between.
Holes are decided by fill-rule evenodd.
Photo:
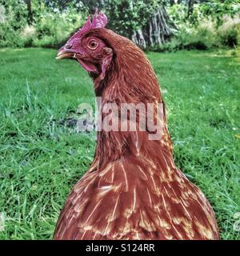
<instances>
[{"instance_id":1,"label":"band of trees and bushes beyond the far edge of the lawn","mask_svg":"<svg viewBox=\"0 0 240 256\"><path fill-rule=\"evenodd\" d=\"M236 47L238 0L0 0L0 47L58 47L98 8L144 49Z\"/></svg>"}]
</instances>

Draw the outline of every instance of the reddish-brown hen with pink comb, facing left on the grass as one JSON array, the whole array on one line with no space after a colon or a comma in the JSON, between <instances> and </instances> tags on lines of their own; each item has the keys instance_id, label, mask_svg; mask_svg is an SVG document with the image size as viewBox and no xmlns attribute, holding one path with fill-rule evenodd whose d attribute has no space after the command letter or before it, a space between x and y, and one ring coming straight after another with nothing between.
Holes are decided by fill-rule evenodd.
<instances>
[{"instance_id":1,"label":"reddish-brown hen with pink comb, facing left on the grass","mask_svg":"<svg viewBox=\"0 0 240 256\"><path fill-rule=\"evenodd\" d=\"M153 124L141 130L139 114L136 130L98 131L94 161L71 190L54 239L218 239L210 203L174 164L166 111L150 62L106 24L106 15L97 11L62 46L58 59L74 58L89 72L102 106L163 105L162 136L150 139ZM153 112L156 122L155 108ZM130 122L129 115L124 122Z\"/></svg>"}]
</instances>

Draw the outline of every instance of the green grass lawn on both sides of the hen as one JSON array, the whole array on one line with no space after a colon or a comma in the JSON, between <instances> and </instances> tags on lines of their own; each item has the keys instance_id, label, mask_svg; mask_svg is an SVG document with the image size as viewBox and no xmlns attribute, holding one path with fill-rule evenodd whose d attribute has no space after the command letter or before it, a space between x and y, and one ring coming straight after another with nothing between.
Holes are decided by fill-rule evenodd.
<instances>
[{"instance_id":1,"label":"green grass lawn on both sides of the hen","mask_svg":"<svg viewBox=\"0 0 240 256\"><path fill-rule=\"evenodd\" d=\"M55 50L0 50L0 239L50 239L94 156L94 134L59 125L94 104L88 75ZM149 53L177 166L209 198L222 239L239 239L240 58L227 51Z\"/></svg>"}]
</instances>

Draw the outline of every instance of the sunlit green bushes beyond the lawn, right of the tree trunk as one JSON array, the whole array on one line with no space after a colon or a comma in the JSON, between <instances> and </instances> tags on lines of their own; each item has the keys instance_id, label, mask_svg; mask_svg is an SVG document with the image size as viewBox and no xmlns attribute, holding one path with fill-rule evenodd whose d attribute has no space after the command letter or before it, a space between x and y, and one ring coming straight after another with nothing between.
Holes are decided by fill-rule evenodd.
<instances>
[{"instance_id":1,"label":"sunlit green bushes beyond the lawn, right of the tree trunk","mask_svg":"<svg viewBox=\"0 0 240 256\"><path fill-rule=\"evenodd\" d=\"M186 18L185 4L170 6L168 11L178 26L178 33L166 45L156 46L154 50L209 50L238 46L240 5L235 3L209 1L195 4L190 19Z\"/></svg>"}]
</instances>

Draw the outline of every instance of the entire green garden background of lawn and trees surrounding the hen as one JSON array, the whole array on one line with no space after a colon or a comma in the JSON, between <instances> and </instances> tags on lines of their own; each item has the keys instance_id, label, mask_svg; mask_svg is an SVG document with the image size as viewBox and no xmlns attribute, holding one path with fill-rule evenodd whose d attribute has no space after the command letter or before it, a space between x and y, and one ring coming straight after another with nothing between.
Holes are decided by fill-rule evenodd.
<instances>
[{"instance_id":1,"label":"entire green garden background of lawn and trees surrounding the hen","mask_svg":"<svg viewBox=\"0 0 240 256\"><path fill-rule=\"evenodd\" d=\"M0 0L0 239L51 239L94 158L78 133L89 75L57 50L98 8L146 51L166 102L174 161L240 239L240 2Z\"/></svg>"}]
</instances>

